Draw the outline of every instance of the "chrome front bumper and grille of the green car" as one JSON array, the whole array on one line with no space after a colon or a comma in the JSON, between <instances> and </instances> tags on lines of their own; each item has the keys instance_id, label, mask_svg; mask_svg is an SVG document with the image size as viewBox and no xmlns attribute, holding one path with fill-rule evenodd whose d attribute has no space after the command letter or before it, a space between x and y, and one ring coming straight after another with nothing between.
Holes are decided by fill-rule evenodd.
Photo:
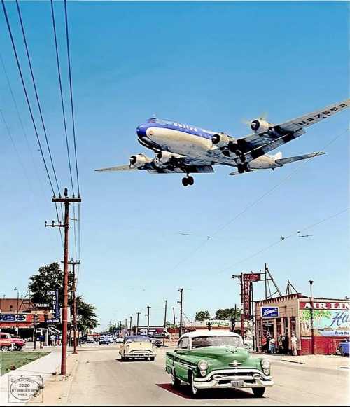
<instances>
[{"instance_id":1,"label":"chrome front bumper and grille of the green car","mask_svg":"<svg viewBox=\"0 0 350 407\"><path fill-rule=\"evenodd\" d=\"M242 374L246 373L246 375ZM232 386L231 382L243 382L242 386ZM227 369L212 371L205 378L194 380L197 389L251 389L253 387L271 387L274 382L258 369Z\"/></svg>"}]
</instances>

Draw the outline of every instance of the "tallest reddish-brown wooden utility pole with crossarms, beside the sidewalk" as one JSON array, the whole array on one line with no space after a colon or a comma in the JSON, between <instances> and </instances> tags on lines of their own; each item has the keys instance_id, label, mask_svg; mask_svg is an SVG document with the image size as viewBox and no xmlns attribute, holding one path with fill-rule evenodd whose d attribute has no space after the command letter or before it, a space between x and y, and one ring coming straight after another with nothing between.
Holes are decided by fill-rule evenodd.
<instances>
[{"instance_id":1,"label":"tallest reddish-brown wooden utility pole with crossarms, beside the sidewalk","mask_svg":"<svg viewBox=\"0 0 350 407\"><path fill-rule=\"evenodd\" d=\"M72 202L81 202L81 198L68 198L68 189L64 188L64 198L52 198L52 202L64 203L64 224L61 222L51 225L45 222L45 226L52 228L64 228L64 263L63 263L63 307L62 307L62 358L61 358L61 375L66 374L66 340L67 340L67 308L68 308L68 240L69 240L69 204Z\"/></svg>"}]
</instances>

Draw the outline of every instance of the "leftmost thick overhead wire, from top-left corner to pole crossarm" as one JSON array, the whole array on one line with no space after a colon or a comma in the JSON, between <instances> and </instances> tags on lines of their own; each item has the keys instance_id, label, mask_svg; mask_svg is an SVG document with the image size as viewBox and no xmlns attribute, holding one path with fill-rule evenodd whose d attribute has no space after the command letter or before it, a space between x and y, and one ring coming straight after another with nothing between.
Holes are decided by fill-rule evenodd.
<instances>
[{"instance_id":1,"label":"leftmost thick overhead wire, from top-left corner to pole crossarm","mask_svg":"<svg viewBox=\"0 0 350 407\"><path fill-rule=\"evenodd\" d=\"M6 6L5 6L5 1L4 0L1 0L1 5L3 7L3 15L4 15L5 20L6 20L6 26L8 28L8 34L10 35L10 41L11 41L11 45L12 45L12 48L13 48L13 53L15 54L15 60L16 60L16 64L17 64L17 67L18 67L19 74L20 74L22 88L23 88L23 90L25 92L25 99L26 99L27 106L28 106L28 109L29 109L29 114L30 114L30 117L31 117L31 123L33 123L34 132L36 134L36 141L38 142L39 151L41 153L41 159L43 160L43 164L44 164L44 167L45 167L45 172L46 172L46 174L48 176L48 181L49 181L49 184L50 184L52 195L55 196L55 188L53 187L53 184L52 184L52 180L51 180L51 177L50 177L50 172L48 171L48 165L46 163L45 156L44 156L44 153L43 153L43 148L41 146L40 137L38 135L38 129L36 127L36 123L35 123L35 120L34 120L33 110L31 109L31 103L30 103L30 100L29 100L27 87L25 85L25 79L24 79L23 74L22 74L22 68L20 66L20 60L19 60L17 49L16 49L16 46L15 46L15 40L13 39L13 33L12 33L12 30L11 30L11 26L10 26L10 20L8 19L8 13L6 11ZM56 208L57 221L59 221L59 215L58 215L58 209L57 209L57 204L56 203L55 203L55 208ZM62 243L62 246L63 246L61 228L59 228L59 235L61 237L61 243Z\"/></svg>"}]
</instances>

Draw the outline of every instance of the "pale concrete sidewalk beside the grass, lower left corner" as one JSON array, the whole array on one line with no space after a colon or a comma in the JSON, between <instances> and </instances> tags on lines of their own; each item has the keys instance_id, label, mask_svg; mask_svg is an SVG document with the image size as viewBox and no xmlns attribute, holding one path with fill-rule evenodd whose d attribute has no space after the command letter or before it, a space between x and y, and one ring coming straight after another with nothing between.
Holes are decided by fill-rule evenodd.
<instances>
[{"instance_id":1,"label":"pale concrete sidewalk beside the grass, lower left corner","mask_svg":"<svg viewBox=\"0 0 350 407\"><path fill-rule=\"evenodd\" d=\"M60 352L51 352L44 357L36 359L25 366L2 375L0 378L0 406L24 406L26 402L8 402L8 384L10 375L41 375L43 383L56 372L61 360Z\"/></svg>"}]
</instances>

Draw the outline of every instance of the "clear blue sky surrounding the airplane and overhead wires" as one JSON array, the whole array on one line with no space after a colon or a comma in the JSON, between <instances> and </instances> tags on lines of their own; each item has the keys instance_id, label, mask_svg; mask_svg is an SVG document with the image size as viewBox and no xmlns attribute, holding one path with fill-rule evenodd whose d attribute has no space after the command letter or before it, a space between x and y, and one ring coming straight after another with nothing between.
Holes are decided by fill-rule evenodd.
<instances>
[{"instance_id":1,"label":"clear blue sky surrounding the airplane and overhead wires","mask_svg":"<svg viewBox=\"0 0 350 407\"><path fill-rule=\"evenodd\" d=\"M29 84L15 4L6 6ZM230 168L222 167L195 177L191 188L183 188L179 175L93 171L145 153L135 128L153 113L242 137L249 133L244 120L264 112L279 123L346 99L346 3L69 1L68 8L83 197L78 291L97 305L102 325L144 312L146 305L151 323L160 324L165 299L179 315L179 287L186 289L188 317L203 308L214 314L239 304L232 273L264 263L282 291L289 278L307 293L312 278L315 295L349 294L347 213L308 230L311 238L290 237L239 263L349 205L349 133L295 172L298 164L229 177ZM59 183L69 186L50 3L21 2L21 10ZM55 2L55 12L68 103L62 2ZM57 229L43 227L55 212L2 13L0 50L30 144L1 71L0 109L23 163L0 120L0 295L9 297L15 286L25 294L40 265L60 261L62 247ZM340 113L311 127L280 149L283 156L323 149L346 130L348 119ZM262 295L263 284L255 284L255 299Z\"/></svg>"}]
</instances>

